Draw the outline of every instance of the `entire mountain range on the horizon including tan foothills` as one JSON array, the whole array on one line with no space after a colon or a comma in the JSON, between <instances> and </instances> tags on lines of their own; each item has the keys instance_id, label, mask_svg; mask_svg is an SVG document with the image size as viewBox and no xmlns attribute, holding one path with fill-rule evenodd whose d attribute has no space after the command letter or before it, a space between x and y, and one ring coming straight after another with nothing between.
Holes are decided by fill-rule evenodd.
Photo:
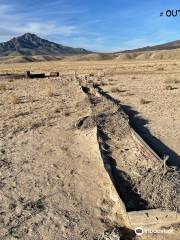
<instances>
[{"instance_id":1,"label":"entire mountain range on the horizon including tan foothills","mask_svg":"<svg viewBox=\"0 0 180 240\"><path fill-rule=\"evenodd\" d=\"M51 60L170 60L180 59L180 40L115 53L97 53L50 42L25 33L0 43L0 62L34 62Z\"/></svg>"}]
</instances>

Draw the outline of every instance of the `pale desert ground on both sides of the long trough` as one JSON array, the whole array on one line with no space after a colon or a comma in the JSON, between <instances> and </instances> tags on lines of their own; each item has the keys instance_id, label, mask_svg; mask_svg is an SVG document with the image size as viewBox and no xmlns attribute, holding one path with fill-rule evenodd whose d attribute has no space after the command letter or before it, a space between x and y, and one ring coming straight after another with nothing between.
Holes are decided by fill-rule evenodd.
<instances>
[{"instance_id":1,"label":"pale desert ground on both sides of the long trough","mask_svg":"<svg viewBox=\"0 0 180 240\"><path fill-rule=\"evenodd\" d=\"M0 80L0 239L179 239L178 226L173 235L138 237L124 222L102 161L101 139L87 116L109 114L103 119L107 134L113 133L110 121L121 124L126 117L97 92L83 92L82 87L91 90L81 80L87 77L105 96L117 100L132 127L176 170L180 167L180 61L0 64L0 73L27 70L58 71L60 77ZM123 126L119 131L115 125L119 136L129 131L126 123ZM136 146L125 139L123 147L129 144L129 148L120 152L119 136L114 142L108 140L109 154L118 159L117 167L133 176L132 166L123 165L121 159L130 156L133 164L138 153L129 150ZM141 193L147 198L150 194ZM162 205L171 209L171 203ZM129 209L136 208L133 204L128 202Z\"/></svg>"}]
</instances>

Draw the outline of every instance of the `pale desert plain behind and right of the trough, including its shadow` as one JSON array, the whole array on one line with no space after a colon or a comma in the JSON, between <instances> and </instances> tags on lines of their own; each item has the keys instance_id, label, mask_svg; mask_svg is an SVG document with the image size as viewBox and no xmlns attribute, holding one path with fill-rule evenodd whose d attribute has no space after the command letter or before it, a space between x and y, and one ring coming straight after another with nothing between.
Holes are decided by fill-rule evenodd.
<instances>
[{"instance_id":1,"label":"pale desert plain behind and right of the trough, including its shadow","mask_svg":"<svg viewBox=\"0 0 180 240\"><path fill-rule=\"evenodd\" d=\"M105 91L119 99L149 144L180 166L180 61L89 61L0 64L1 72L60 71L95 74ZM96 81L97 77L93 81ZM115 88L118 88L116 90ZM113 90L115 89L115 90ZM143 104L145 100L145 104Z\"/></svg>"}]
</instances>

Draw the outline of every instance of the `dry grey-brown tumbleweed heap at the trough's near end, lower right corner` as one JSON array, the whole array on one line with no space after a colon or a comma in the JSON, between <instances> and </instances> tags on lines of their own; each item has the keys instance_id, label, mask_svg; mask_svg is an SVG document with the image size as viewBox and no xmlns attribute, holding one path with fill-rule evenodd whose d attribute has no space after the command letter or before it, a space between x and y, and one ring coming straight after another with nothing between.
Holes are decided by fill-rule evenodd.
<instances>
[{"instance_id":1,"label":"dry grey-brown tumbleweed heap at the trough's near end, lower right corner","mask_svg":"<svg viewBox=\"0 0 180 240\"><path fill-rule=\"evenodd\" d=\"M148 200L149 208L169 209L179 212L180 171L158 167L135 179L138 193Z\"/></svg>"}]
</instances>

